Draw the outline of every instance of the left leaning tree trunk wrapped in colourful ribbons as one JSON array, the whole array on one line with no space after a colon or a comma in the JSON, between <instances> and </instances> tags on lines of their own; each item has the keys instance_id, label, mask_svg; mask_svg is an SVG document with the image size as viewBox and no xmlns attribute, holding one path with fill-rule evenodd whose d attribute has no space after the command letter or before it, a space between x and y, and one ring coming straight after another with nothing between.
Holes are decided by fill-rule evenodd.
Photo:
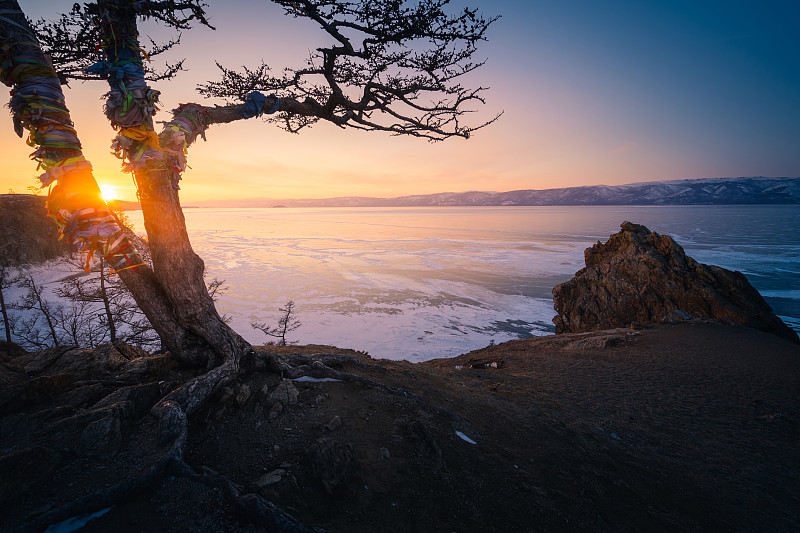
<instances>
[{"instance_id":1,"label":"left leaning tree trunk wrapped in colourful ribbons","mask_svg":"<svg viewBox=\"0 0 800 533\"><path fill-rule=\"evenodd\" d=\"M161 282L103 202L58 76L19 4L0 0L0 11L0 81L12 87L9 107L14 129L20 137L24 129L29 130L28 142L36 148L32 157L45 170L39 179L43 187L51 185L48 212L60 226L62 238L78 244L87 262L95 254L108 261L170 352L180 359L196 360L207 350L196 348L201 340L180 324Z\"/></svg>"}]
</instances>

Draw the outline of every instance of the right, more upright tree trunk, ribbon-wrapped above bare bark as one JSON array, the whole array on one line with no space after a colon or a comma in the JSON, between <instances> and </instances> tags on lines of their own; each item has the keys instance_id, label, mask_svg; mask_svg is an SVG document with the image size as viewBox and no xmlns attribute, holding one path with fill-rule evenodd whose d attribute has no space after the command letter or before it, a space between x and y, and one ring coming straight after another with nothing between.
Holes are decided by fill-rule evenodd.
<instances>
[{"instance_id":1,"label":"right, more upright tree trunk, ribbon-wrapped above bare bark","mask_svg":"<svg viewBox=\"0 0 800 533\"><path fill-rule=\"evenodd\" d=\"M152 117L159 93L144 81L137 14L136 4L128 0L98 2L96 19L105 60L90 70L107 77L111 86L106 115L118 130L113 146L136 179L155 278L172 314L189 333L187 338L200 341L195 349L183 347L183 359L205 359L208 368L225 363L236 370L251 347L214 307L203 278L203 261L192 250L178 198L186 150L214 117L200 106L184 105L156 135Z\"/></svg>"}]
</instances>

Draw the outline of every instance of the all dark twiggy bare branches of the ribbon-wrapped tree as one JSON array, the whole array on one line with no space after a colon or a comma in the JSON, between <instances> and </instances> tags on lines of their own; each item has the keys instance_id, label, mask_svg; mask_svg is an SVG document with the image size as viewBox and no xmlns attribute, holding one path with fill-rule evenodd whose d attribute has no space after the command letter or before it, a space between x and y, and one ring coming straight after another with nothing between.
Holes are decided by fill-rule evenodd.
<instances>
[{"instance_id":1,"label":"all dark twiggy bare branches of the ribbon-wrapped tree","mask_svg":"<svg viewBox=\"0 0 800 533\"><path fill-rule=\"evenodd\" d=\"M340 127L433 141L467 138L499 118L500 114L468 120L485 104L487 87L462 84L465 76L483 65L473 57L497 17L485 18L475 9L448 14L450 0L271 1L289 16L317 23L332 42L312 52L301 67L280 74L273 74L263 62L240 71L218 64L221 79L200 85L202 95L224 98L232 105L246 105L254 91L269 95L266 102L262 97L263 108L236 118L265 113L267 121L293 133L325 120ZM213 29L201 0L132 1L131 6L138 16L175 30L193 24ZM100 77L96 71L86 71L102 40L98 13L96 3L76 4L56 21L40 20L35 25L62 79ZM146 58L179 43L180 34L160 44L151 39ZM145 79L163 80L182 70L183 60L160 70L146 66Z\"/></svg>"}]
</instances>

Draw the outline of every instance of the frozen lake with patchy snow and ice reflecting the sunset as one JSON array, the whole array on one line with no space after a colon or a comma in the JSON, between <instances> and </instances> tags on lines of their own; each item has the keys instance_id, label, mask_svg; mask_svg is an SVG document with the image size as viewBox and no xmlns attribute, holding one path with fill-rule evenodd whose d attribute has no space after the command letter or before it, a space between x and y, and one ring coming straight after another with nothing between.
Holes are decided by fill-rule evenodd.
<instances>
[{"instance_id":1,"label":"frozen lake with patchy snow and ice reflecting the sunset","mask_svg":"<svg viewBox=\"0 0 800 533\"><path fill-rule=\"evenodd\" d=\"M739 270L800 329L800 206L186 209L221 313L251 322L296 304L288 340L419 361L553 332L551 290L623 220ZM141 213L128 213L142 231Z\"/></svg>"}]
</instances>

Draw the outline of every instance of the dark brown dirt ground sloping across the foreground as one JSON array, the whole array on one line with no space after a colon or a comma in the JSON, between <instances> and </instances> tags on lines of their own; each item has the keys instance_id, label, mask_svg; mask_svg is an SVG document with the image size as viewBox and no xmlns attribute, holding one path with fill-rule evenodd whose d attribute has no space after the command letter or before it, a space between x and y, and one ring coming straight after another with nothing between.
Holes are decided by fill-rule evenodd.
<instances>
[{"instance_id":1,"label":"dark brown dirt ground sloping across the foreground","mask_svg":"<svg viewBox=\"0 0 800 533\"><path fill-rule=\"evenodd\" d=\"M375 366L341 370L415 395L295 382L297 405L270 416L260 391L280 378L251 373L238 384L253 392L243 405L218 396L190 419L193 468L228 476L308 526L800 530L800 346L778 337L695 321L538 337L421 364L321 346L263 349L348 353ZM165 388L188 376L162 369L145 382ZM0 530L25 531L157 459L146 414L124 423L115 453L87 455L65 420L115 387L78 385L0 418ZM256 484L276 470L274 483ZM170 477L81 531L265 529L219 491Z\"/></svg>"}]
</instances>

